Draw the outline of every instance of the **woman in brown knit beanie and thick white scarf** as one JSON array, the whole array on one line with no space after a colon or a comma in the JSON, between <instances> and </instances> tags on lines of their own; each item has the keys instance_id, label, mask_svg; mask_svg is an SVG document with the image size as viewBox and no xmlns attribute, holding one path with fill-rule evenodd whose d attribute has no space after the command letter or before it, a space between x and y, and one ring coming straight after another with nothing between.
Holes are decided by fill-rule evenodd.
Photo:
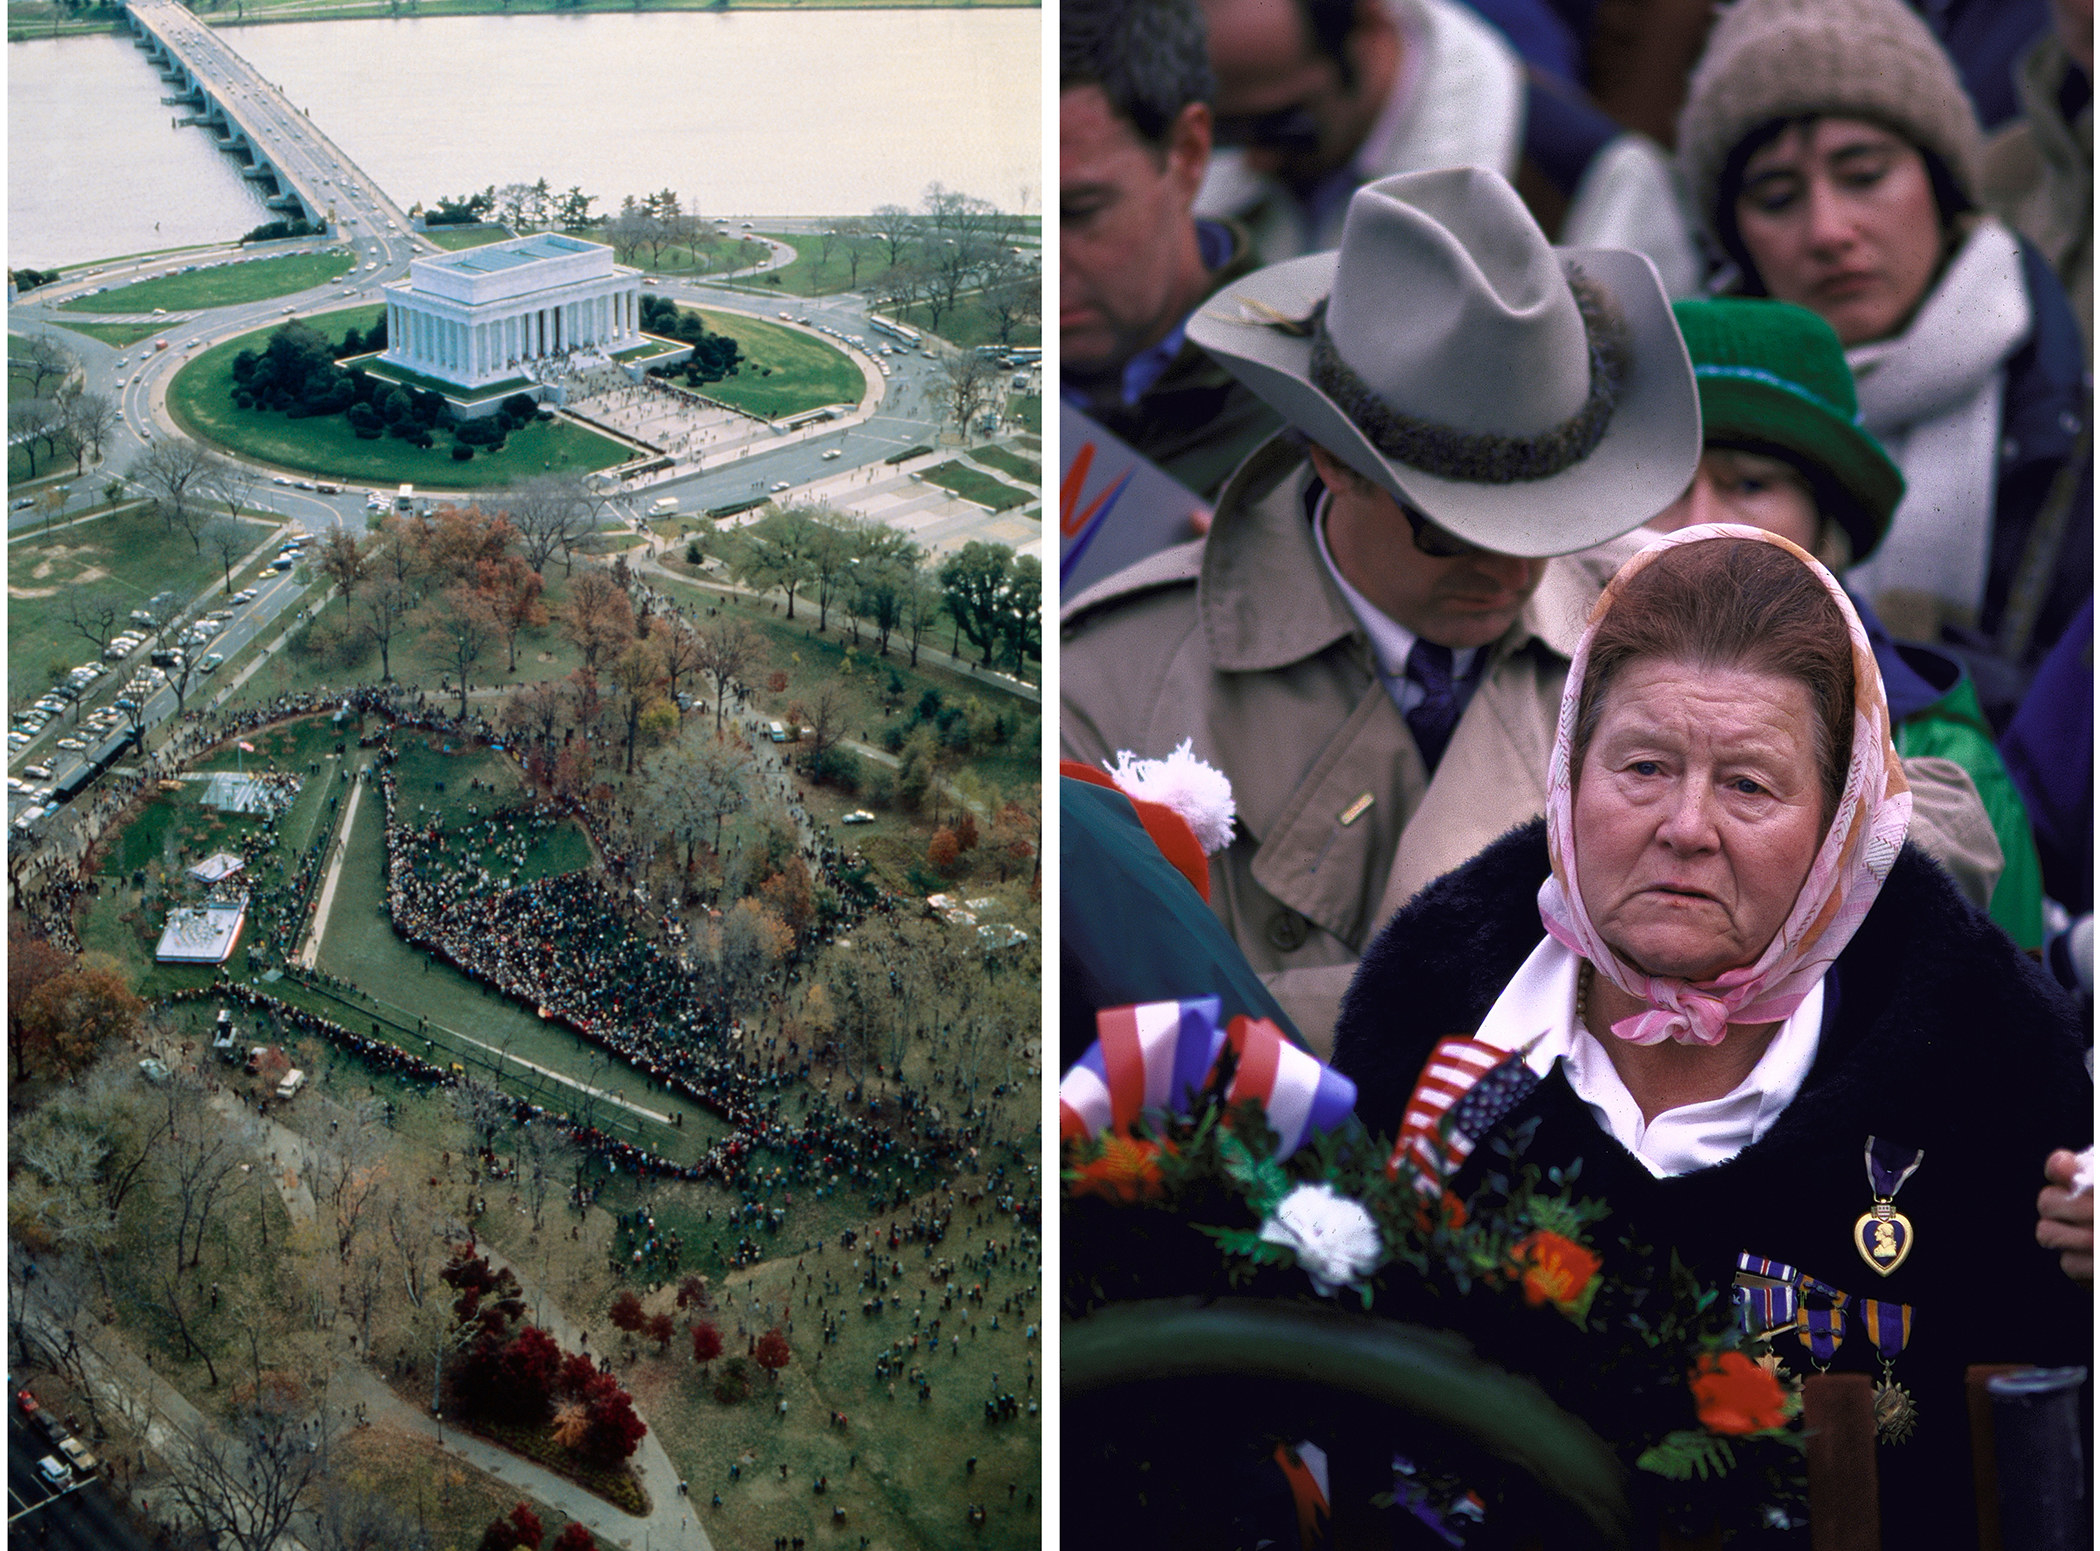
<instances>
[{"instance_id":1,"label":"woman in brown knit beanie and thick white scarf","mask_svg":"<svg viewBox=\"0 0 2100 1551\"><path fill-rule=\"evenodd\" d=\"M1974 210L1982 134L1903 0L1739 0L1678 124L1732 288L1819 313L1907 493L1846 581L1970 665L2003 724L2092 596L2077 321L2048 262ZM2024 579L2022 579L2024 577Z\"/></svg>"}]
</instances>

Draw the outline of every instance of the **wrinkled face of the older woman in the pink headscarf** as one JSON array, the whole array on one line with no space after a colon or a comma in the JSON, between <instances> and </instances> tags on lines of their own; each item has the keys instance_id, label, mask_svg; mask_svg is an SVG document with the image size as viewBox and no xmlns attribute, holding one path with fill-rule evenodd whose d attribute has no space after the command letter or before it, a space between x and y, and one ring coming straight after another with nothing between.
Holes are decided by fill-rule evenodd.
<instances>
[{"instance_id":1,"label":"wrinkled face of the older woman in the pink headscarf","mask_svg":"<svg viewBox=\"0 0 2100 1551\"><path fill-rule=\"evenodd\" d=\"M1806 684L1648 657L1619 670L1575 783L1575 854L1621 959L1682 980L1756 963L1821 840Z\"/></svg>"}]
</instances>

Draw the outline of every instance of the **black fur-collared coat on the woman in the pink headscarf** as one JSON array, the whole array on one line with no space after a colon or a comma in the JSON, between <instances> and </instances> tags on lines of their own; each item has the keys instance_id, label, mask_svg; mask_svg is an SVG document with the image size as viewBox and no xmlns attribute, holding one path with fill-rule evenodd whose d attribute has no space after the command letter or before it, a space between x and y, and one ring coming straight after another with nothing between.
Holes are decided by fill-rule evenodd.
<instances>
[{"instance_id":1,"label":"black fur-collared coat on the woman in the pink headscarf","mask_svg":"<svg viewBox=\"0 0 2100 1551\"><path fill-rule=\"evenodd\" d=\"M1422 1064L1470 1035L1546 936L1537 892L1546 821L1510 831L1436 879L1371 944L1342 1003L1334 1064L1359 1085L1373 1133L1399 1129ZM1917 1433L1884 1444L1888 1547L1974 1541L1961 1373L1972 1362L2092 1362L2092 1295L2035 1245L2035 1196L2052 1148L2092 1140L2092 1081L2077 1012L1947 875L1905 848L1825 980L1821 1047L1802 1091L1756 1144L1712 1169L1655 1180L1575 1098L1560 1068L1510 1117L1539 1117L1529 1161L1583 1161L1579 1194L1606 1201L1600 1249L1628 1228L1672 1245L1709 1287L1741 1251L1787 1261L1858 1299L1913 1308L1894 1377L1917 1400ZM1852 1242L1873 1205L1869 1135L1924 1148L1896 1196L1909 1259L1877 1274ZM1464 1196L1483 1152L1460 1173ZM1806 1373L1793 1337L1789 1368ZM1880 1373L1848 1320L1833 1371Z\"/></svg>"}]
</instances>

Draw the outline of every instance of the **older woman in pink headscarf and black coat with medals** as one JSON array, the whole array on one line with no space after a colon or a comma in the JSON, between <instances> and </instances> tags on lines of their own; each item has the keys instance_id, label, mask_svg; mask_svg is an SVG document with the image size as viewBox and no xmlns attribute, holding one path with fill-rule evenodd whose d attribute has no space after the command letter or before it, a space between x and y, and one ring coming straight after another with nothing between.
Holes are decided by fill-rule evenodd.
<instances>
[{"instance_id":1,"label":"older woman in pink headscarf and black coat with medals","mask_svg":"<svg viewBox=\"0 0 2100 1551\"><path fill-rule=\"evenodd\" d=\"M1774 1341L1793 1373L1882 1381L1886 1543L1945 1547L1974 1524L1964 1366L2087 1360L2035 1192L2090 1138L2092 1083L2062 993L1907 823L1844 590L1777 535L1682 529L1590 617L1546 821L1388 923L1336 1066L1399 1131L1445 1037L1522 1051L1525 1159L1581 1159L1602 1242L1762 1289L1802 1326Z\"/></svg>"}]
</instances>

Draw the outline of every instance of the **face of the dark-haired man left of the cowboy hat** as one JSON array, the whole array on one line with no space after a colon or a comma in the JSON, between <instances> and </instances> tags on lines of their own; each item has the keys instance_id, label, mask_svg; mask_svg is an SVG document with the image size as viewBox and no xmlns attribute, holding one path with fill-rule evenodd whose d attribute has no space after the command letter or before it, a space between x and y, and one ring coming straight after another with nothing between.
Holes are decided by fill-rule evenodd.
<instances>
[{"instance_id":1,"label":"face of the dark-haired man left of the cowboy hat","mask_svg":"<svg viewBox=\"0 0 2100 1551\"><path fill-rule=\"evenodd\" d=\"M1138 139L1098 86L1058 101L1058 342L1082 376L1119 369L1180 321L1189 208L1210 164L1210 115L1184 109L1166 149Z\"/></svg>"}]
</instances>

